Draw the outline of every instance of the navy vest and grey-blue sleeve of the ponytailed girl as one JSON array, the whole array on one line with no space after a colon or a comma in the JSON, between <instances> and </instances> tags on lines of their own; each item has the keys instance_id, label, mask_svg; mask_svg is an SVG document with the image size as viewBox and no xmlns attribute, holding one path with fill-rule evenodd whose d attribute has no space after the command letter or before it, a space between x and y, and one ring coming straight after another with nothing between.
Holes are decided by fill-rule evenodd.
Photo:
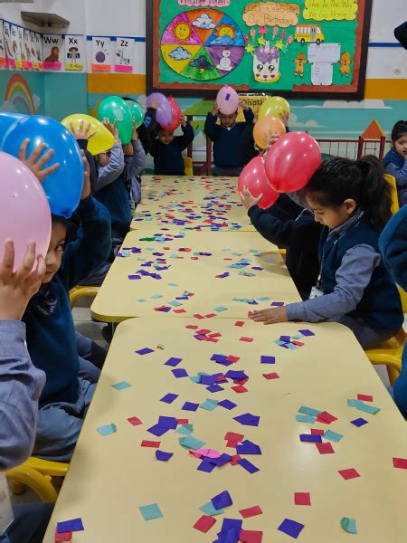
<instances>
[{"instance_id":1,"label":"navy vest and grey-blue sleeve of the ponytailed girl","mask_svg":"<svg viewBox=\"0 0 407 543\"><path fill-rule=\"evenodd\" d=\"M319 243L324 296L287 306L289 320L319 320L349 315L372 329L402 327L402 304L379 253L380 233L362 212L329 231Z\"/></svg>"}]
</instances>

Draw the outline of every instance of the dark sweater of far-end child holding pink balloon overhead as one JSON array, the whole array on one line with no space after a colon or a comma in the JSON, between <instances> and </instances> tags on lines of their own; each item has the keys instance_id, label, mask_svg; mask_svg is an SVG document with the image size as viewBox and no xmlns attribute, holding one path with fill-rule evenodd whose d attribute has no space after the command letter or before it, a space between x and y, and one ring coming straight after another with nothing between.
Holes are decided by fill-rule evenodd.
<instances>
[{"instance_id":1,"label":"dark sweater of far-end child holding pink balloon overhead","mask_svg":"<svg viewBox=\"0 0 407 543\"><path fill-rule=\"evenodd\" d=\"M245 122L235 122L229 129L216 124L216 115L208 113L206 116L204 132L213 141L213 163L216 167L232 169L243 166L245 157L241 154L241 135L254 119L250 108L243 110L243 115Z\"/></svg>"}]
</instances>

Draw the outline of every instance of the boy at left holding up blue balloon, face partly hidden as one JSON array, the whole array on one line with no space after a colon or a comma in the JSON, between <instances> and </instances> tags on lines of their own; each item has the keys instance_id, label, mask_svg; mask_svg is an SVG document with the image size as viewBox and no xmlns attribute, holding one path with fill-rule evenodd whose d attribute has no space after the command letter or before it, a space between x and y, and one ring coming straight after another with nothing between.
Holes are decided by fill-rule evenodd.
<instances>
[{"instance_id":1,"label":"boy at left holding up blue balloon, face partly hidden","mask_svg":"<svg viewBox=\"0 0 407 543\"><path fill-rule=\"evenodd\" d=\"M106 260L111 245L109 213L90 194L87 163L76 211L80 236L65 252L65 220L52 216L43 284L23 317L33 365L46 375L33 454L57 462L71 459L95 386L80 377L69 290Z\"/></svg>"}]
</instances>

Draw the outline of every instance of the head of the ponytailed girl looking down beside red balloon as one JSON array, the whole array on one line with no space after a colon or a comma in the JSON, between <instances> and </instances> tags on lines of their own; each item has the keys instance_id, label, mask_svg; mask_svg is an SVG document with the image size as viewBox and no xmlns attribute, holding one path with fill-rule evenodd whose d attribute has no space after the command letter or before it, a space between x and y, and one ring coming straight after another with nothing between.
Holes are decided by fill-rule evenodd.
<instances>
[{"instance_id":1,"label":"head of the ponytailed girl looking down beside red balloon","mask_svg":"<svg viewBox=\"0 0 407 543\"><path fill-rule=\"evenodd\" d=\"M376 157L325 160L311 177L306 196L315 220L330 229L345 223L357 209L364 211L377 230L392 215L391 186Z\"/></svg>"}]
</instances>

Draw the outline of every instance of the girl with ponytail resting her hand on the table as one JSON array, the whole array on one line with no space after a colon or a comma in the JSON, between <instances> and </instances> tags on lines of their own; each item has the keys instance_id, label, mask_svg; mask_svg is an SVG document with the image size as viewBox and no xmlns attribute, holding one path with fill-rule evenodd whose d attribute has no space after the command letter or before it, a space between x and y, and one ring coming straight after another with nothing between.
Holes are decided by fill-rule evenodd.
<instances>
[{"instance_id":1,"label":"girl with ponytail resting her hand on the table","mask_svg":"<svg viewBox=\"0 0 407 543\"><path fill-rule=\"evenodd\" d=\"M403 323L400 296L378 247L392 205L383 168L375 157L331 158L304 192L315 220L324 226L317 284L309 300L255 311L252 319L339 322L353 330L363 348L373 348Z\"/></svg>"}]
</instances>

